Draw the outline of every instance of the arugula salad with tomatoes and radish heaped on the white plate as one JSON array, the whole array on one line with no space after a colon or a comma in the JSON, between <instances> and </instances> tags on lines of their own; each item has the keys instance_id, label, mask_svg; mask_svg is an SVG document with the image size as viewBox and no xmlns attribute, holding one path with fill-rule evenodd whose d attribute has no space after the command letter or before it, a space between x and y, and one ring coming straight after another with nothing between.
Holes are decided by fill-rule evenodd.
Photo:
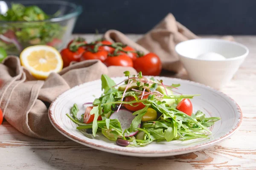
<instances>
[{"instance_id":1,"label":"arugula salad with tomatoes and radish heaped on the white plate","mask_svg":"<svg viewBox=\"0 0 256 170\"><path fill-rule=\"evenodd\" d=\"M76 104L67 116L78 130L104 135L120 146L145 146L153 141L209 138L219 117L207 118L202 111L192 113L190 99L199 95L173 94L179 84L165 85L163 80L148 79L140 72L116 83L102 75L102 95L85 103L85 113L78 118Z\"/></svg>"}]
</instances>

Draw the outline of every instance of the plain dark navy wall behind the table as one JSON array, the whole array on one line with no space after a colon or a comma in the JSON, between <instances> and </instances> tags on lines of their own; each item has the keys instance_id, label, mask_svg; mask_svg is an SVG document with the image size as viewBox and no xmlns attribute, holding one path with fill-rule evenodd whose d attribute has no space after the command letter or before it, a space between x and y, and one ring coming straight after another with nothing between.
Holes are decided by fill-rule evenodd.
<instances>
[{"instance_id":1,"label":"plain dark navy wall behind the table","mask_svg":"<svg viewBox=\"0 0 256 170\"><path fill-rule=\"evenodd\" d=\"M256 34L256 0L67 0L83 7L74 33L149 31L169 12L195 34Z\"/></svg>"}]
</instances>

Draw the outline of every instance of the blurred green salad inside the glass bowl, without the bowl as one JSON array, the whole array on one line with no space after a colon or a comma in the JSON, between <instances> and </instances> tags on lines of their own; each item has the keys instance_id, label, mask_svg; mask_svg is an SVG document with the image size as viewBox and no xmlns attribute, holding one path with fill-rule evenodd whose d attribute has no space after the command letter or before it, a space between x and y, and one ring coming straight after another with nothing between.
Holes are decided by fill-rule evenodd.
<instances>
[{"instance_id":1,"label":"blurred green salad inside the glass bowl, without the bowl","mask_svg":"<svg viewBox=\"0 0 256 170\"><path fill-rule=\"evenodd\" d=\"M0 26L0 46L6 51L19 53L30 45L60 45L64 27L60 23L44 21L58 14L56 11L47 15L38 6L12 3L6 14L0 14L0 21L8 21Z\"/></svg>"}]
</instances>

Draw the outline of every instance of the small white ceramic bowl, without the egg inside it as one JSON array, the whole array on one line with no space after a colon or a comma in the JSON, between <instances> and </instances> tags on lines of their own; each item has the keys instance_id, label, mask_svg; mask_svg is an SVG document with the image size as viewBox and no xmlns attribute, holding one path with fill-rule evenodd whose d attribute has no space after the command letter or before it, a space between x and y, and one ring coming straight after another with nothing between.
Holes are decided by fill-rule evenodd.
<instances>
[{"instance_id":1,"label":"small white ceramic bowl, without the egg inside it","mask_svg":"<svg viewBox=\"0 0 256 170\"><path fill-rule=\"evenodd\" d=\"M232 79L249 53L248 48L242 44L213 38L180 42L175 51L191 80L217 89ZM207 52L221 54L226 59L209 61L196 58Z\"/></svg>"}]
</instances>

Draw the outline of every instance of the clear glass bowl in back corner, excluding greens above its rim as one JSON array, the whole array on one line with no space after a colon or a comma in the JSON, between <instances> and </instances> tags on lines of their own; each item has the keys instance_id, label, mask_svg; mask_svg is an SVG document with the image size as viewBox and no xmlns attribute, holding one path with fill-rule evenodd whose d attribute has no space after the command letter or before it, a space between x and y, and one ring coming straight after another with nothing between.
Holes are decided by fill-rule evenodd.
<instances>
[{"instance_id":1,"label":"clear glass bowl in back corner, excluding greens above its rim","mask_svg":"<svg viewBox=\"0 0 256 170\"><path fill-rule=\"evenodd\" d=\"M82 7L61 0L0 1L0 13L5 14L12 3L38 6L47 15L56 16L43 21L0 20L0 47L8 55L19 55L31 45L50 45L60 50L70 39Z\"/></svg>"}]
</instances>

